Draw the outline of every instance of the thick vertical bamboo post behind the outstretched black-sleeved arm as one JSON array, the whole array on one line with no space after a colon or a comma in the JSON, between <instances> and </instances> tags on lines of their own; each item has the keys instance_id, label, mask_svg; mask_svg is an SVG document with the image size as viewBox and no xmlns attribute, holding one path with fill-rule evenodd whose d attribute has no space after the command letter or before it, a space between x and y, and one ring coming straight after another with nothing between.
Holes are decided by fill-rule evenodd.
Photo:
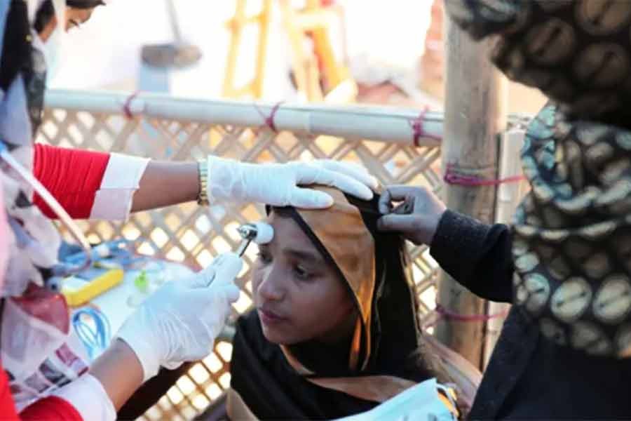
<instances>
[{"instance_id":1,"label":"thick vertical bamboo post behind the outstretched black-sleeved arm","mask_svg":"<svg viewBox=\"0 0 631 421\"><path fill-rule=\"evenodd\" d=\"M447 83L442 168L487 180L498 176L498 133L506 128L503 94L506 81L489 61L488 42L475 43L447 18ZM496 187L447 185L447 207L493 222ZM472 250L473 251L473 250ZM484 282L484 279L480 279ZM440 275L438 302L450 312L485 314L484 300L475 297L447 274ZM484 323L443 319L439 340L482 368Z\"/></svg>"}]
</instances>

